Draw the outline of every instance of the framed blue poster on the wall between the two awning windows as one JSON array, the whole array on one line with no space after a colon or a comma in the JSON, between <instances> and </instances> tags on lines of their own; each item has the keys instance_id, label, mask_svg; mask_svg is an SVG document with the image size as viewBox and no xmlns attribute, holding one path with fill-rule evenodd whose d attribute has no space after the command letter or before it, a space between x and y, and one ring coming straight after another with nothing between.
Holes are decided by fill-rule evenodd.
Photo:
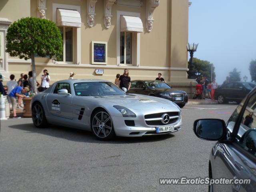
<instances>
[{"instance_id":1,"label":"framed blue poster on the wall between the two awning windows","mask_svg":"<svg viewBox=\"0 0 256 192\"><path fill-rule=\"evenodd\" d=\"M108 43L92 41L92 64L107 64Z\"/></svg>"}]
</instances>

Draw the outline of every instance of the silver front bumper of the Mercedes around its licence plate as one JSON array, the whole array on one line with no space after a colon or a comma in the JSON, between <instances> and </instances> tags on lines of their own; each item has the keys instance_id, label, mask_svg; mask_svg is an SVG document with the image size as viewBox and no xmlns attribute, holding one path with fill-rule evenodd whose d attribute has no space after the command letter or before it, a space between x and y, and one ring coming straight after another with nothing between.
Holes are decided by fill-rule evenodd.
<instances>
[{"instance_id":1,"label":"silver front bumper of the Mercedes around its licence plate","mask_svg":"<svg viewBox=\"0 0 256 192\"><path fill-rule=\"evenodd\" d=\"M125 120L133 120L134 126L127 126L124 122ZM175 123L165 125L165 126L170 126L170 125L174 126L173 131L160 132L160 133L156 132L156 126L149 126L146 124L144 120L144 116L143 117L138 116L136 118L122 118L122 119L120 119L120 116L112 116L112 122L114 124L116 135L124 136L124 137L141 137L141 136L149 136L149 135L170 134L180 130L182 127L181 116Z\"/></svg>"}]
</instances>

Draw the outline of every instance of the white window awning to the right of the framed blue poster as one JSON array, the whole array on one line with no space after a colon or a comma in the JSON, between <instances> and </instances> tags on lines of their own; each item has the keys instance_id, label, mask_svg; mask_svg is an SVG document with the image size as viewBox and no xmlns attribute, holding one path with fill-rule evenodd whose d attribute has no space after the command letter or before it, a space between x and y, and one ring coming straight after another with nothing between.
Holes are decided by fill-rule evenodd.
<instances>
[{"instance_id":1,"label":"white window awning to the right of the framed blue poster","mask_svg":"<svg viewBox=\"0 0 256 192\"><path fill-rule=\"evenodd\" d=\"M121 15L120 31L143 32L142 21L139 17Z\"/></svg>"}]
</instances>

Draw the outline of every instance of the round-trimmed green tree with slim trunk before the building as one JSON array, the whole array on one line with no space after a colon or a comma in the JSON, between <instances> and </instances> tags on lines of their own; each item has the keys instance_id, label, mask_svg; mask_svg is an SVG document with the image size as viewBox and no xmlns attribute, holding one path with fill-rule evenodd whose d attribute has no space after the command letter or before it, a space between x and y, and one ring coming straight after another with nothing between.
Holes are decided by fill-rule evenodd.
<instances>
[{"instance_id":1,"label":"round-trimmed green tree with slim trunk before the building","mask_svg":"<svg viewBox=\"0 0 256 192\"><path fill-rule=\"evenodd\" d=\"M62 36L56 24L47 19L27 17L11 24L6 34L6 52L32 60L33 85L36 90L36 67L34 56L49 56L59 60L62 55Z\"/></svg>"}]
</instances>

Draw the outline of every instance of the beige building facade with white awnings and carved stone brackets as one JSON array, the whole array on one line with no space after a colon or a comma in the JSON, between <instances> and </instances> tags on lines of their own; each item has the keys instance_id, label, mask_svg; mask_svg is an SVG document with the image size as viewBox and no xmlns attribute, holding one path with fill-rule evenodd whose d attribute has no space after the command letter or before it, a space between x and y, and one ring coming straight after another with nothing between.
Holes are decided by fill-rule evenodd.
<instances>
[{"instance_id":1,"label":"beige building facade with white awnings and carved stone brackets","mask_svg":"<svg viewBox=\"0 0 256 192\"><path fill-rule=\"evenodd\" d=\"M31 60L10 57L4 38L22 17L52 20L63 38L62 61L36 57L37 79L44 69L51 83L74 78L114 81L129 69L132 80L187 83L188 0L1 0L0 72L16 79L32 70ZM5 79L8 80L8 79Z\"/></svg>"}]
</instances>

